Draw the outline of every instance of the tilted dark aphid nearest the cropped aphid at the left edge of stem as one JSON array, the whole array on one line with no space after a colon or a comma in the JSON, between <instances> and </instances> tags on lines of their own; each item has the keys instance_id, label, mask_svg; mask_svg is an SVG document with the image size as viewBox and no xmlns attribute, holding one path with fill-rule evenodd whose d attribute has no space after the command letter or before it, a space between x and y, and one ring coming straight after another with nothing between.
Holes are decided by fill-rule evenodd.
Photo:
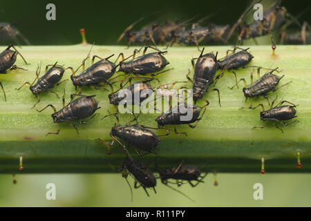
<instances>
[{"instance_id":1,"label":"tilted dark aphid nearest the cropped aphid at the left edge of stem","mask_svg":"<svg viewBox=\"0 0 311 221\"><path fill-rule=\"evenodd\" d=\"M52 67L48 69L49 66ZM54 88L55 86L59 86L59 84L62 84L64 81L66 81L66 79L64 81L60 81L64 75L65 69L63 68L63 66L57 65L57 62L55 64L48 64L44 72L45 74L39 78L40 71L41 71L41 64L37 68L36 78L32 82L32 84L26 81L21 87L17 89L19 90L23 86L28 84L32 94L37 95L38 101L34 104L34 106L32 106L32 108L34 108L40 102L40 93L48 90L50 90L50 93L55 93L55 91L51 89ZM35 83L37 79L38 81L37 83ZM57 93L55 93L55 95L57 95ZM57 97L59 96L57 95Z\"/></svg>"}]
</instances>

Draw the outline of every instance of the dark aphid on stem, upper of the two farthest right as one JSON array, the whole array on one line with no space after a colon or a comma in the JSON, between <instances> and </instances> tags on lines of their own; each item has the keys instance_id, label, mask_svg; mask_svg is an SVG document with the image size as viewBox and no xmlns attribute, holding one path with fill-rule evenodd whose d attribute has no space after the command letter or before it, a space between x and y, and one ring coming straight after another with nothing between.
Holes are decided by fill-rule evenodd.
<instances>
[{"instance_id":1,"label":"dark aphid on stem, upper of the two farthest right","mask_svg":"<svg viewBox=\"0 0 311 221\"><path fill-rule=\"evenodd\" d=\"M246 81L244 78L241 78L238 83L241 81L244 82L244 88L243 88L243 93L246 99L252 98L252 97L260 97L264 96L266 97L267 93L270 91L275 91L278 90L279 88L289 84L290 82L283 84L282 86L278 86L279 81L285 76L278 76L274 75L273 72L276 71L278 68L275 68L271 70L270 72L266 73L263 75L263 77L260 77L260 68L257 70L257 77L258 79L253 83L253 73L251 73L251 85L247 86ZM232 86L233 88L234 86ZM232 89L231 88L231 89ZM243 108L252 108L252 103L250 104L249 107L243 107Z\"/></svg>"}]
</instances>

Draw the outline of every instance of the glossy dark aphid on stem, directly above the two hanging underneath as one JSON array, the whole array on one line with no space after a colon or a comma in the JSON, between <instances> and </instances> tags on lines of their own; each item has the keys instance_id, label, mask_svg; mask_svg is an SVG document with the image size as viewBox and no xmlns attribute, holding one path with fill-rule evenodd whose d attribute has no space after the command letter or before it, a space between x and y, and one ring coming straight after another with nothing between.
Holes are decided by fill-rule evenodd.
<instances>
[{"instance_id":1,"label":"glossy dark aphid on stem, directly above the two hanging underneath","mask_svg":"<svg viewBox=\"0 0 311 221\"><path fill-rule=\"evenodd\" d=\"M168 129L167 134L156 135L156 133L153 133L153 131L149 130L149 128L151 127L142 126L139 124L130 125L131 122L137 121L139 115L134 119L132 119L129 123L125 124L124 126L121 126L117 114L118 113L113 113L105 116L105 117L115 116L117 118L117 124L115 124L115 126L111 128L110 136L113 139L111 144L98 138L98 140L100 140L100 142L108 146L108 148L111 148L111 146L113 146L114 142L116 141L124 148L124 151L129 155L129 151L127 150L126 146L122 144L119 140L117 140L117 137L119 137L120 139L124 140L124 142L131 144L135 148L135 152L139 156L141 156L141 154L137 150L137 148L139 148L142 151L146 151L147 153L144 153L143 155L147 155L149 153L156 153L155 151L157 150L157 146L160 144L159 137L169 135ZM151 129L158 129L158 128L151 128Z\"/></svg>"}]
</instances>

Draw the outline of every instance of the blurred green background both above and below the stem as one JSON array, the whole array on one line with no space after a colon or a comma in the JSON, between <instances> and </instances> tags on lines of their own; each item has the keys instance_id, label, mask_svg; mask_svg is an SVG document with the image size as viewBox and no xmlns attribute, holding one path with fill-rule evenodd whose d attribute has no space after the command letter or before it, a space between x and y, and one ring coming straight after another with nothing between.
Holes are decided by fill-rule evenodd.
<instances>
[{"instance_id":1,"label":"blurred green background both above and below the stem","mask_svg":"<svg viewBox=\"0 0 311 221\"><path fill-rule=\"evenodd\" d=\"M56 21L46 20L46 4L55 3ZM32 45L79 44L79 29L86 29L88 42L115 44L117 37L133 21L144 19L134 30L152 21L189 19L215 13L209 21L218 24L238 19L249 1L3 1L0 7L1 22L18 22L17 28ZM263 1L269 5L272 1ZM308 1L286 1L282 6L292 15L307 8ZM309 21L310 13L300 18ZM266 41L270 44L269 37ZM0 42L0 44L7 44ZM258 169L259 169L258 165ZM294 166L294 165L293 165ZM27 174L0 175L0 206L311 206L311 174L268 173L218 174L219 186L214 177L205 177L205 183L183 191L196 202L187 200L162 184L157 194L133 189L133 202L129 186L120 174ZM129 178L133 185L133 180ZM253 185L263 184L263 200L254 200ZM57 200L46 200L46 184L55 183Z\"/></svg>"}]
</instances>

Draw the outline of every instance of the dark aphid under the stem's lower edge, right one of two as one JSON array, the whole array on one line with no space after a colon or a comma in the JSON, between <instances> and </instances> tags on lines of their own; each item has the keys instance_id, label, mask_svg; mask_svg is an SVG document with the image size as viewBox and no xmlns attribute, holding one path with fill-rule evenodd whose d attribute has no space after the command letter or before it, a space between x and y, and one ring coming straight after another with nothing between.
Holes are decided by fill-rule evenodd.
<instances>
[{"instance_id":1,"label":"dark aphid under the stem's lower edge, right one of two","mask_svg":"<svg viewBox=\"0 0 311 221\"><path fill-rule=\"evenodd\" d=\"M196 166L182 166L183 161L176 167L171 166L171 168L165 168L162 169L159 172L161 182L163 184L168 184L169 179L176 180L178 186L182 184L180 180L187 181L192 187L197 186L200 182L203 182L202 180L205 178L207 173L205 175L201 175L202 172L200 169ZM196 184L193 184L192 182L196 181Z\"/></svg>"}]
</instances>

